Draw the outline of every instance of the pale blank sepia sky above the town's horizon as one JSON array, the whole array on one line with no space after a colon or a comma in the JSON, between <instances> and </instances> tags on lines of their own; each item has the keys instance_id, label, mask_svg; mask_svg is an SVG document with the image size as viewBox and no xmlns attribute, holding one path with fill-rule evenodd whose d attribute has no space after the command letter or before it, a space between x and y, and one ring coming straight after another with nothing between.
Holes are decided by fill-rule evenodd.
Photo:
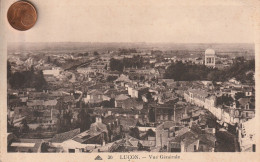
<instances>
[{"instance_id":1,"label":"pale blank sepia sky above the town's horizon","mask_svg":"<svg viewBox=\"0 0 260 162\"><path fill-rule=\"evenodd\" d=\"M4 2L6 11L14 1ZM239 0L31 2L36 25L21 32L6 20L8 42L254 42L254 8Z\"/></svg>"}]
</instances>

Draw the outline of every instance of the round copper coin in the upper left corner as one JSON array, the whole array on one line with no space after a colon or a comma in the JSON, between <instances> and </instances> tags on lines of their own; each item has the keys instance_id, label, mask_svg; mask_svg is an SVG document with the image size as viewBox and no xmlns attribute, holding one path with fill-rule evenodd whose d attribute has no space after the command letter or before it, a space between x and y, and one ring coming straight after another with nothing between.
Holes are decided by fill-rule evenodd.
<instances>
[{"instance_id":1,"label":"round copper coin in the upper left corner","mask_svg":"<svg viewBox=\"0 0 260 162\"><path fill-rule=\"evenodd\" d=\"M37 20L35 7L26 1L13 3L7 11L7 19L10 25L17 30L28 30Z\"/></svg>"}]
</instances>

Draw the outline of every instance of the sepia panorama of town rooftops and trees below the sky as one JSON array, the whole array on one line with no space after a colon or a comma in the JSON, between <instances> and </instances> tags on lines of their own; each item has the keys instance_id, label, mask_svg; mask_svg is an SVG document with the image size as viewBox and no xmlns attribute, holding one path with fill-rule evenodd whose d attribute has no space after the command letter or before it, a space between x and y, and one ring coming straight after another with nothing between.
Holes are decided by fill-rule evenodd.
<instances>
[{"instance_id":1,"label":"sepia panorama of town rooftops and trees below the sky","mask_svg":"<svg viewBox=\"0 0 260 162\"><path fill-rule=\"evenodd\" d=\"M255 152L254 44L9 43L7 151Z\"/></svg>"}]
</instances>

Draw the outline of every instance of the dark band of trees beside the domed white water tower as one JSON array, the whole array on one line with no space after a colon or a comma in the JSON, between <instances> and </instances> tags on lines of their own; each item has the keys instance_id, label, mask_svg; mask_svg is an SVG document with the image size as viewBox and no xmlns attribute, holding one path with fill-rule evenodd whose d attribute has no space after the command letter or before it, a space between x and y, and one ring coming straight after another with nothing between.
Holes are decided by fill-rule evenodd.
<instances>
[{"instance_id":1,"label":"dark band of trees beside the domed white water tower","mask_svg":"<svg viewBox=\"0 0 260 162\"><path fill-rule=\"evenodd\" d=\"M248 61L244 57L237 57L230 67L222 70L206 67L205 65L175 62L166 69L164 77L176 81L226 81L234 77L242 83L253 83L253 73L248 73L248 71L255 71L255 60Z\"/></svg>"}]
</instances>

